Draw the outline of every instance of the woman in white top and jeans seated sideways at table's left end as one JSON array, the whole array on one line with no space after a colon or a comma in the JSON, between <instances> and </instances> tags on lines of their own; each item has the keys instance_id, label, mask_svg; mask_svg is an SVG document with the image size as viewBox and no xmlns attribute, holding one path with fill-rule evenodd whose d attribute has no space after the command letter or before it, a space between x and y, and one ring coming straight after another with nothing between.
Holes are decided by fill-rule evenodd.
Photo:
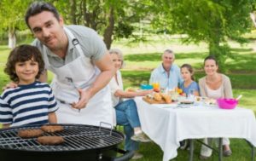
<instances>
[{"instance_id":1,"label":"woman in white top and jeans seated sideways at table's left end","mask_svg":"<svg viewBox=\"0 0 256 161\"><path fill-rule=\"evenodd\" d=\"M117 124L123 125L125 130L125 150L137 151L138 142L150 141L146 135L144 135L141 129L140 120L137 114L137 105L132 99L122 101L122 98L132 98L135 96L148 95L152 90L142 91L124 91L123 80L119 69L124 65L123 54L119 49L110 49L109 54L113 60L113 64L116 69L114 77L111 79L109 85L111 89L111 96L113 101L113 107L116 112ZM142 158L143 155L135 152L135 156L132 159Z\"/></svg>"}]
</instances>

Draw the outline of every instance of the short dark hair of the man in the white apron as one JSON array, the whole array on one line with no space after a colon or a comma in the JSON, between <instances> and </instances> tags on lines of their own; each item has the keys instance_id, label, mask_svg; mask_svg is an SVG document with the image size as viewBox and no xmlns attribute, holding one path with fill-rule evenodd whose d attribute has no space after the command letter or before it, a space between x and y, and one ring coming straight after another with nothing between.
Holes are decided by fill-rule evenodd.
<instances>
[{"instance_id":1,"label":"short dark hair of the man in the white apron","mask_svg":"<svg viewBox=\"0 0 256 161\"><path fill-rule=\"evenodd\" d=\"M54 14L55 18L57 20L60 20L60 14L58 13L57 9L50 3L44 3L44 2L34 2L32 3L29 8L26 10L25 20L26 20L26 26L29 26L28 19L29 17L40 14L43 11L49 11Z\"/></svg>"}]
</instances>

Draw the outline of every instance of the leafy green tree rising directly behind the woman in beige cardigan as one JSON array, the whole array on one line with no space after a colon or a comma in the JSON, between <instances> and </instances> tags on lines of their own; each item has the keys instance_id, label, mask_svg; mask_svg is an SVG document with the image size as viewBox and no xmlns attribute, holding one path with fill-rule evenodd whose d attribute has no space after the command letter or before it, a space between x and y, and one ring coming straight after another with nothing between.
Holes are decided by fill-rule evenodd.
<instances>
[{"instance_id":1,"label":"leafy green tree rising directly behind the woman in beige cardigan","mask_svg":"<svg viewBox=\"0 0 256 161\"><path fill-rule=\"evenodd\" d=\"M252 27L250 12L254 0L160 0L160 24L170 24L172 32L185 33L184 43L208 43L209 55L215 55L219 66L230 55L228 38L245 43L241 37ZM159 9L158 9L159 10Z\"/></svg>"}]
</instances>

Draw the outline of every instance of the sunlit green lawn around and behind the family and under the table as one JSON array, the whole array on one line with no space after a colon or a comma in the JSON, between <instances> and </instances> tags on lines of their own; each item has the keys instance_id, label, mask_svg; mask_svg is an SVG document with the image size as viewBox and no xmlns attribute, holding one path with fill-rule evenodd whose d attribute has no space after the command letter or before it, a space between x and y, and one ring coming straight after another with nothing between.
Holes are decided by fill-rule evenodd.
<instances>
[{"instance_id":1,"label":"sunlit green lawn around and behind the family and under the table","mask_svg":"<svg viewBox=\"0 0 256 161\"><path fill-rule=\"evenodd\" d=\"M252 109L256 112L256 52L252 37L251 42L240 46L238 43L230 41L233 59L226 62L226 72L232 83L234 96L243 95L239 106ZM129 86L139 87L140 83L148 82L150 72L160 64L160 55L165 49L172 49L176 53L177 65L189 63L195 67L195 78L204 76L202 71L203 59L207 56L207 44L181 44L179 36L173 37L150 37L147 43L128 43L127 40L119 40L113 43L113 48L122 49L125 54L125 67L122 69L125 88ZM9 78L4 74L3 68L9 55L6 46L0 46L0 88L9 82ZM49 82L52 78L50 74ZM233 155L224 158L224 161L248 161L250 160L250 148L247 142L239 139L231 139ZM139 161L158 161L162 158L162 152L153 142L141 144L139 152L143 153L144 158ZM195 144L195 158L199 160L200 145ZM189 152L178 150L177 158L172 161L184 161L189 158ZM218 160L215 154L210 161Z\"/></svg>"}]
</instances>

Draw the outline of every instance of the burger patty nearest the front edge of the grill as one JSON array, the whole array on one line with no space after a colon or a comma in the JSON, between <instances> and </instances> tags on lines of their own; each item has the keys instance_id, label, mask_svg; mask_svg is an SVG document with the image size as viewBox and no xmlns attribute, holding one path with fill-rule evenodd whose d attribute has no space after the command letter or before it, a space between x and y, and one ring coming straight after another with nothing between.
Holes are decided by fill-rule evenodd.
<instances>
[{"instance_id":1,"label":"burger patty nearest the front edge of the grill","mask_svg":"<svg viewBox=\"0 0 256 161\"><path fill-rule=\"evenodd\" d=\"M38 137L38 142L44 146L53 146L58 145L64 142L64 138L62 136L40 136Z\"/></svg>"}]
</instances>

